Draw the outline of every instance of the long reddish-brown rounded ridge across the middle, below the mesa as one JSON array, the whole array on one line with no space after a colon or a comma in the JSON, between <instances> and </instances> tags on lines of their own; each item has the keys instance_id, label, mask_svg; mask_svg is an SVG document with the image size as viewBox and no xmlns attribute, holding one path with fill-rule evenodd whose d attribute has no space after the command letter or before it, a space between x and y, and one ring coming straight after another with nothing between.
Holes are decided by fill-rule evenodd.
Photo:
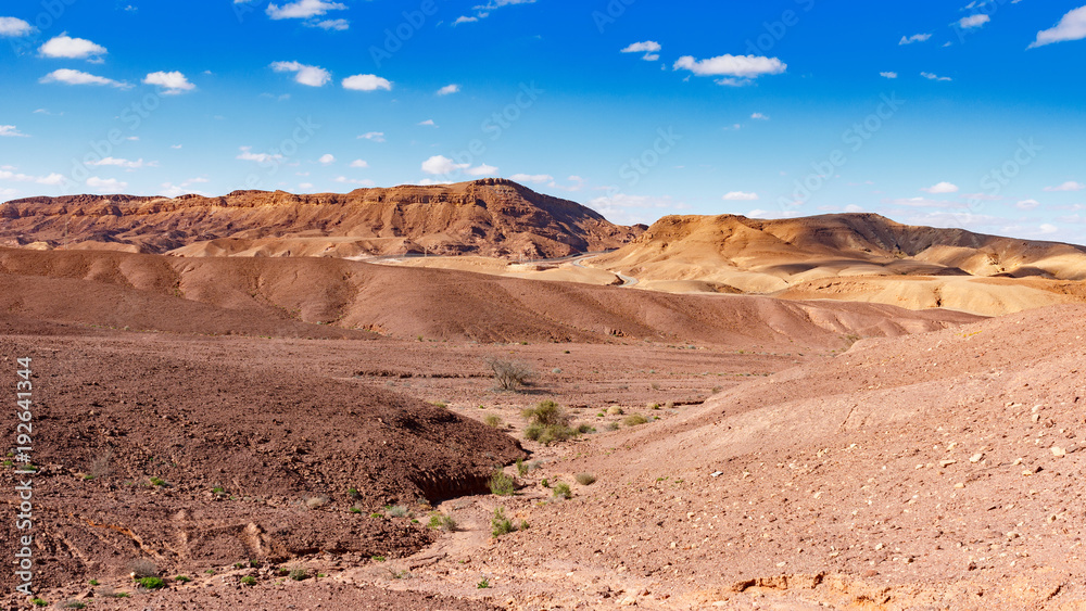
<instances>
[{"instance_id":1,"label":"long reddish-brown rounded ridge across the middle, below the mesa","mask_svg":"<svg viewBox=\"0 0 1086 611\"><path fill-rule=\"evenodd\" d=\"M301 333L298 326L310 323L306 327L315 331L304 336L342 336L365 329L400 338L483 342L599 342L622 336L839 347L847 335L896 335L976 320L883 305L668 295L343 259L9 249L0 250L0 271L13 289L37 282L25 293L5 293L11 314L109 326L131 317L138 328L169 331L282 335ZM49 283L38 282L42 277ZM50 291L81 291L80 282L87 290L78 306L48 298ZM188 313L191 324L185 327L188 317L171 314L176 311ZM238 327L230 328L230 322Z\"/></svg>"}]
</instances>

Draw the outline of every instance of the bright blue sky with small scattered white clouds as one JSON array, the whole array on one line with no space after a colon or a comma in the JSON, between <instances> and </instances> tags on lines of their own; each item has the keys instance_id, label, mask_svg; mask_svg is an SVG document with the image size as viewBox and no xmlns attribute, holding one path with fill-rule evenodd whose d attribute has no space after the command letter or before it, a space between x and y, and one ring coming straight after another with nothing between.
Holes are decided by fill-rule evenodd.
<instances>
[{"instance_id":1,"label":"bright blue sky with small scattered white clouds","mask_svg":"<svg viewBox=\"0 0 1086 611\"><path fill-rule=\"evenodd\" d=\"M1086 242L1084 0L479 2L8 1L0 201L502 176Z\"/></svg>"}]
</instances>

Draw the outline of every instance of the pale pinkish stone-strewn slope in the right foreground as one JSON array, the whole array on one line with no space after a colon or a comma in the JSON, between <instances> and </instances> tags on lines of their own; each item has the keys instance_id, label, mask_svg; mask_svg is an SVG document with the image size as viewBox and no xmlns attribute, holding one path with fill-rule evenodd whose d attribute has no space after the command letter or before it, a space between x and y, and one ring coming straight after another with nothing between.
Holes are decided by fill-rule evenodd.
<instances>
[{"instance_id":1,"label":"pale pinkish stone-strewn slope in the right foreground","mask_svg":"<svg viewBox=\"0 0 1086 611\"><path fill-rule=\"evenodd\" d=\"M542 476L598 483L526 507L494 563L567 588L620 568L613 591L680 607L1064 609L1086 599L1084 316L866 340L580 447Z\"/></svg>"}]
</instances>

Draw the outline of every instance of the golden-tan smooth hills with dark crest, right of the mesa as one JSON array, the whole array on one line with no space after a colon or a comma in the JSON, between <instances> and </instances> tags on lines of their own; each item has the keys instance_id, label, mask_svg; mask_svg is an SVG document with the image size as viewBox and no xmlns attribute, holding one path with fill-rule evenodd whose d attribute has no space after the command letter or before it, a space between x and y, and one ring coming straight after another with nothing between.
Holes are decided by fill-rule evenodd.
<instances>
[{"instance_id":1,"label":"golden-tan smooth hills with dark crest, right of the mesa","mask_svg":"<svg viewBox=\"0 0 1086 611\"><path fill-rule=\"evenodd\" d=\"M872 214L785 220L669 216L589 265L636 277L644 289L871 301L983 315L1086 298L1082 246L911 227ZM1035 281L997 284L988 278Z\"/></svg>"}]
</instances>

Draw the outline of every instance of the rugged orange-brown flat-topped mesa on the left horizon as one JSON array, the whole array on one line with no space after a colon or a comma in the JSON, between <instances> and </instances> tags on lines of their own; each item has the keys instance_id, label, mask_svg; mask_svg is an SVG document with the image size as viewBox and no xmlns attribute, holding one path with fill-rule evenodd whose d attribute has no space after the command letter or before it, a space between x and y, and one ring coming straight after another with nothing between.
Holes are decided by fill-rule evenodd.
<instances>
[{"instance_id":1,"label":"rugged orange-brown flat-topped mesa on the left horizon","mask_svg":"<svg viewBox=\"0 0 1086 611\"><path fill-rule=\"evenodd\" d=\"M0 244L179 256L405 253L550 258L621 246L643 227L504 179L350 193L67 195L0 205Z\"/></svg>"}]
</instances>

